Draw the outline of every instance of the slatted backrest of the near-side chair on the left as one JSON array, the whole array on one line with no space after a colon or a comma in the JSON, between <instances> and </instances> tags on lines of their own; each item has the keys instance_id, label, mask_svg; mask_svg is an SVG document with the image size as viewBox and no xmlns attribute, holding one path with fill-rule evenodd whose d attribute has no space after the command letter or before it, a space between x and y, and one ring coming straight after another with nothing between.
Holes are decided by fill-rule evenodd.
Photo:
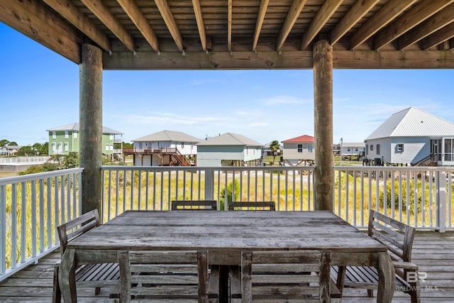
<instances>
[{"instance_id":1,"label":"slatted backrest of the near-side chair on the left","mask_svg":"<svg viewBox=\"0 0 454 303\"><path fill-rule=\"evenodd\" d=\"M208 302L208 252L119 251L120 302L144 296Z\"/></svg>"}]
</instances>

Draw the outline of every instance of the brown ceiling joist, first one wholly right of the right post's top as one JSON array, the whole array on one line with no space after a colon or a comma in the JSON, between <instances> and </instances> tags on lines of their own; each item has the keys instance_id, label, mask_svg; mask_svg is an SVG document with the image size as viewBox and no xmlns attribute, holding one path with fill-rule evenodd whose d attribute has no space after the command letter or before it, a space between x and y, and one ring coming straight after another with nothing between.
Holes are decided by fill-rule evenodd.
<instances>
[{"instance_id":1,"label":"brown ceiling joist, first one wholly right of the right post's top","mask_svg":"<svg viewBox=\"0 0 454 303\"><path fill-rule=\"evenodd\" d=\"M350 37L350 49L353 50L387 26L394 18L409 9L418 0L390 0L380 11L377 11L358 31Z\"/></svg>"}]
</instances>

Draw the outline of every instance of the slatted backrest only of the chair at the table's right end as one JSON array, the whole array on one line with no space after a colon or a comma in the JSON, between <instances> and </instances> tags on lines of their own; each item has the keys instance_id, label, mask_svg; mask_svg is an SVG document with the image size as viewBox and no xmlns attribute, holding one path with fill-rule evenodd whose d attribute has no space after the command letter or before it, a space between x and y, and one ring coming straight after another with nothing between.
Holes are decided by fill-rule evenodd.
<instances>
[{"instance_id":1,"label":"slatted backrest only of the chair at the table's right end","mask_svg":"<svg viewBox=\"0 0 454 303\"><path fill-rule=\"evenodd\" d=\"M414 232L413 227L370 210L367 233L387 246L392 260L411 262Z\"/></svg>"}]
</instances>

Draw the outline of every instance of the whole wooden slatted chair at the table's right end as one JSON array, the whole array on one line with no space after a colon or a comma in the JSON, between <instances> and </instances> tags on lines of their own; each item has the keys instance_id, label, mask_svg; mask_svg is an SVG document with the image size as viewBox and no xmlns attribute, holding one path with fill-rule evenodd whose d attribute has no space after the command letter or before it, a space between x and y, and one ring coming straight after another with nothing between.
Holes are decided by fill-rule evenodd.
<instances>
[{"instance_id":1,"label":"whole wooden slatted chair at the table's right end","mask_svg":"<svg viewBox=\"0 0 454 303\"><path fill-rule=\"evenodd\" d=\"M370 237L387 246L396 271L396 287L411 296L412 303L419 303L420 290L418 266L411 263L415 229L396 221L377 211L370 210L367 233ZM338 273L340 271L340 273ZM377 290L378 272L376 268L367 266L333 267L333 277L337 275L338 287L354 287L367 289L370 297ZM407 279L409 277L409 279ZM407 281L408 280L408 281Z\"/></svg>"}]
</instances>

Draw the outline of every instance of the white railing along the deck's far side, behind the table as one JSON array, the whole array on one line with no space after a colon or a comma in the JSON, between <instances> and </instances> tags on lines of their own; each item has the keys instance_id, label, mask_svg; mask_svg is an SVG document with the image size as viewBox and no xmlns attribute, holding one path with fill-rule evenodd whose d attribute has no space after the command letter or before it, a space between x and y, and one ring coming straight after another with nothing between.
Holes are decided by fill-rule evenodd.
<instances>
[{"instance_id":1,"label":"white railing along the deck's far side, behind the table","mask_svg":"<svg viewBox=\"0 0 454 303\"><path fill-rule=\"evenodd\" d=\"M368 210L376 209L417 228L454 227L453 167L334 170L333 211L354 226L367 227ZM279 211L314 210L314 167L105 166L103 174L104 221L128 209L167 210L174 199L216 199L226 209L234 197L272 200Z\"/></svg>"}]
</instances>

